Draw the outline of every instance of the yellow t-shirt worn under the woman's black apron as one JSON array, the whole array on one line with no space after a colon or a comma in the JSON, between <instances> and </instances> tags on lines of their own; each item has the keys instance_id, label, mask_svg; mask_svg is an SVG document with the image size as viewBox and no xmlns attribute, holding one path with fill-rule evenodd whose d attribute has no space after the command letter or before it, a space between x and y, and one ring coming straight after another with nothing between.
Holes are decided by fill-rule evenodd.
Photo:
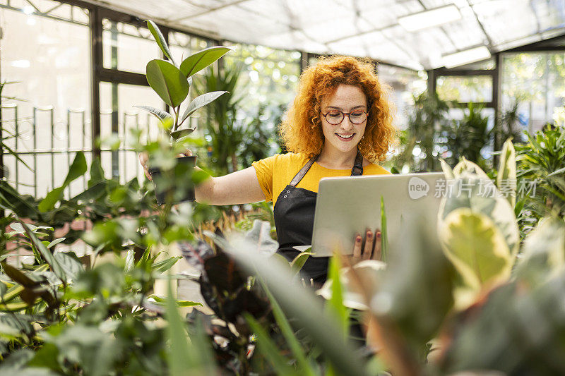
<instances>
[{"instance_id":1,"label":"yellow t-shirt worn under the woman's black apron","mask_svg":"<svg viewBox=\"0 0 565 376\"><path fill-rule=\"evenodd\" d=\"M278 195L292 181L298 171L302 169L309 158L302 153L275 154L273 157L261 159L251 165L255 168L255 173L265 194L266 201L277 202ZM363 175L383 175L391 174L378 164L368 164L363 167ZM318 192L318 185L321 178L333 176L350 176L351 169L334 170L326 169L314 162L304 178L298 183L297 188L304 188L312 192Z\"/></svg>"}]
</instances>

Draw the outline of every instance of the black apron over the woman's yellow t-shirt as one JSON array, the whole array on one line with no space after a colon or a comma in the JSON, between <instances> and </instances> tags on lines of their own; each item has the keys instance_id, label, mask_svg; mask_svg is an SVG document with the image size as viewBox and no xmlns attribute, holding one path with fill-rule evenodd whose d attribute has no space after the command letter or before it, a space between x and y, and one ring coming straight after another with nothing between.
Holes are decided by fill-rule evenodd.
<instances>
[{"instance_id":1,"label":"black apron over the woman's yellow t-shirt","mask_svg":"<svg viewBox=\"0 0 565 376\"><path fill-rule=\"evenodd\" d=\"M277 228L278 253L289 262L300 253L292 247L312 243L314 230L314 210L316 209L317 193L304 188L297 188L297 184L308 172L319 155L310 159L307 164L292 178L292 181L278 195L275 208L275 226ZM355 165L351 169L351 176L363 174L363 156L357 150ZM321 286L328 274L329 257L309 257L302 267L301 275L309 281L313 279L315 286Z\"/></svg>"}]
</instances>

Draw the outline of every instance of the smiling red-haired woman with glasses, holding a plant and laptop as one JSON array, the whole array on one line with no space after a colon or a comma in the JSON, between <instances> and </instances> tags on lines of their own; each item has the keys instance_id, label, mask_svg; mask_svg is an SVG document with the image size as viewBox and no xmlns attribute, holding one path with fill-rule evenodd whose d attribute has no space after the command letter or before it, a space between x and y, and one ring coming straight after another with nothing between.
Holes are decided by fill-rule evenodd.
<instances>
[{"instance_id":1,"label":"smiling red-haired woman with glasses, holding a plant and laptop","mask_svg":"<svg viewBox=\"0 0 565 376\"><path fill-rule=\"evenodd\" d=\"M299 253L294 246L311 244L321 178L390 174L375 163L384 159L396 131L391 105L373 64L333 56L307 68L280 134L289 153L208 179L196 187L196 201L230 205L272 200L278 252L293 260ZM140 160L151 178L147 157L140 155ZM353 258L380 258L380 247L373 252L374 243L380 245L379 236L379 231L367 230L362 246L362 237L357 235ZM328 257L310 257L302 277L319 286L326 280L327 269Z\"/></svg>"}]
</instances>

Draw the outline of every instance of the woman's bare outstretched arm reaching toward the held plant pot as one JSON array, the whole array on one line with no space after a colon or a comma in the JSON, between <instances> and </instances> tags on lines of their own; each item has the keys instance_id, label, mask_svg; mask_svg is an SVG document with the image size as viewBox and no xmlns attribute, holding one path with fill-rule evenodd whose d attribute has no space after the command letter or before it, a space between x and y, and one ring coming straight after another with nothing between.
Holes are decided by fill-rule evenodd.
<instances>
[{"instance_id":1,"label":"woman's bare outstretched arm reaching toward the held plant pot","mask_svg":"<svg viewBox=\"0 0 565 376\"><path fill-rule=\"evenodd\" d=\"M218 178L210 176L196 186L194 191L197 202L210 205L236 205L265 200L253 167Z\"/></svg>"}]
</instances>

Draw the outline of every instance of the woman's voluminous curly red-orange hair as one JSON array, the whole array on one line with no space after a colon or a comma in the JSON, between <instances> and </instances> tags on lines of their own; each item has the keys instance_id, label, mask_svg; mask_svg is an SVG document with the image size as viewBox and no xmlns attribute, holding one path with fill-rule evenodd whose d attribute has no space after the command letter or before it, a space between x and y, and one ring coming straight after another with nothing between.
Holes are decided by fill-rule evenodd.
<instances>
[{"instance_id":1,"label":"woman's voluminous curly red-orange hair","mask_svg":"<svg viewBox=\"0 0 565 376\"><path fill-rule=\"evenodd\" d=\"M371 162L385 159L388 147L396 140L393 126L393 104L388 102L390 87L379 82L369 59L351 56L322 57L300 76L298 94L280 124L287 150L308 157L320 154L323 147L321 101L333 95L338 85L360 87L367 97L367 126L359 141L359 151Z\"/></svg>"}]
</instances>

